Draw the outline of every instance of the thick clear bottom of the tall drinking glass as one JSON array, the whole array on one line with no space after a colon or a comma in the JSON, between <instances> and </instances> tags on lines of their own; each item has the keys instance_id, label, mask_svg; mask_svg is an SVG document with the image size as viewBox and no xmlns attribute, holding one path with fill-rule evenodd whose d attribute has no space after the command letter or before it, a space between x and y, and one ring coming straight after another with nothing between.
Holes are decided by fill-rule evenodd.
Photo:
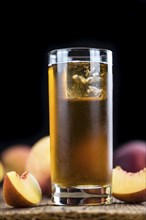
<instances>
[{"instance_id":1,"label":"thick clear bottom of the tall drinking glass","mask_svg":"<svg viewBox=\"0 0 146 220\"><path fill-rule=\"evenodd\" d=\"M52 186L52 202L56 205L103 205L112 203L111 186Z\"/></svg>"}]
</instances>

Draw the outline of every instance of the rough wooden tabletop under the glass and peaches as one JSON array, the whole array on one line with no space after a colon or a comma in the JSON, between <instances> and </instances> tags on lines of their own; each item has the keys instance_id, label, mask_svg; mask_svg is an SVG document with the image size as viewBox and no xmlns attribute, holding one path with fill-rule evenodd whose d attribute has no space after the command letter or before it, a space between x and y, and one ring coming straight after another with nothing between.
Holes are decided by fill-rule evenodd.
<instances>
[{"instance_id":1,"label":"rough wooden tabletop under the glass and peaches","mask_svg":"<svg viewBox=\"0 0 146 220\"><path fill-rule=\"evenodd\" d=\"M1 199L0 220L144 220L146 203L115 201L103 206L55 206L48 198L32 208L11 208Z\"/></svg>"}]
</instances>

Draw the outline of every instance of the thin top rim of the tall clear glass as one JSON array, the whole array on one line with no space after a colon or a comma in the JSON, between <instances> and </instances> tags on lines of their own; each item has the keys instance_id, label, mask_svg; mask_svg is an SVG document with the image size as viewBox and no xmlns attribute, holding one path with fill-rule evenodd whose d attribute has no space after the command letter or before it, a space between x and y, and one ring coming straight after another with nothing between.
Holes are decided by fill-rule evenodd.
<instances>
[{"instance_id":1,"label":"thin top rim of the tall clear glass","mask_svg":"<svg viewBox=\"0 0 146 220\"><path fill-rule=\"evenodd\" d=\"M55 54L57 53L57 51L63 51L63 50L66 50L66 51L73 51L73 50L96 50L96 51L101 51L101 52L107 52L107 53L111 53L112 54L112 50L110 49L106 49L106 48L95 48L95 47L65 47L65 48L56 48L56 49L53 49L51 51L48 52L48 55L50 54Z\"/></svg>"}]
</instances>

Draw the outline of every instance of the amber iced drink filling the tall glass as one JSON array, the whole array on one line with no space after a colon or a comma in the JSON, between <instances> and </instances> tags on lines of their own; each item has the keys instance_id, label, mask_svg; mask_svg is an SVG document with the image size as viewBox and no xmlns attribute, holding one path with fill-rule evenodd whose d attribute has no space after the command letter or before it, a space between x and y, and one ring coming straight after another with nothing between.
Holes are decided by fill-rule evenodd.
<instances>
[{"instance_id":1,"label":"amber iced drink filling the tall glass","mask_svg":"<svg viewBox=\"0 0 146 220\"><path fill-rule=\"evenodd\" d=\"M77 67L82 74L78 75L84 76L80 81L74 77ZM100 78L89 83L87 69L89 62L49 67L51 178L62 187L106 186L111 182L107 66L98 64ZM89 91L96 86L100 94Z\"/></svg>"}]
</instances>

